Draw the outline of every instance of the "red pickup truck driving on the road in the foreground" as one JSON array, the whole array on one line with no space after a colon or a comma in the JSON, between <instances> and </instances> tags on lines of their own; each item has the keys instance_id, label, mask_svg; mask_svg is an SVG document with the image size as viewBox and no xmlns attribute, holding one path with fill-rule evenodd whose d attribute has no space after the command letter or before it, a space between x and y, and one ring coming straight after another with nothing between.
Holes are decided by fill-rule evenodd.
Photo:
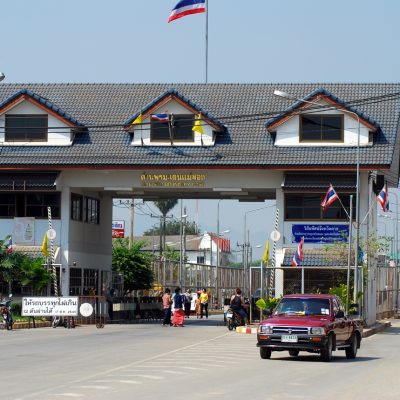
<instances>
[{"instance_id":1,"label":"red pickup truck driving on the road in the foreground","mask_svg":"<svg viewBox=\"0 0 400 400\"><path fill-rule=\"evenodd\" d=\"M292 294L283 296L270 317L260 323L257 346L261 358L288 350L292 357L308 351L330 361L334 350L345 350L347 358L355 358L362 334L363 321L346 316L339 297Z\"/></svg>"}]
</instances>

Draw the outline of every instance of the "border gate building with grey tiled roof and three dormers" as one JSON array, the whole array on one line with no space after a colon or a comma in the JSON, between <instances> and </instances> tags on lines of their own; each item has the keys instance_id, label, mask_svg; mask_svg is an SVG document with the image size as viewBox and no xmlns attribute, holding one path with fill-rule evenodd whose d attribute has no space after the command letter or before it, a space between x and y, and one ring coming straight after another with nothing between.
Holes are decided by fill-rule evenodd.
<instances>
[{"instance_id":1,"label":"border gate building with grey tiled roof and three dormers","mask_svg":"<svg viewBox=\"0 0 400 400\"><path fill-rule=\"evenodd\" d=\"M0 84L0 236L40 246L50 206L67 295L79 279L99 290L109 279L113 198L276 199L278 267L302 236L304 265L347 240L350 195L359 236L373 235L377 193L398 184L400 84L278 86ZM330 184L343 207L324 213Z\"/></svg>"}]
</instances>

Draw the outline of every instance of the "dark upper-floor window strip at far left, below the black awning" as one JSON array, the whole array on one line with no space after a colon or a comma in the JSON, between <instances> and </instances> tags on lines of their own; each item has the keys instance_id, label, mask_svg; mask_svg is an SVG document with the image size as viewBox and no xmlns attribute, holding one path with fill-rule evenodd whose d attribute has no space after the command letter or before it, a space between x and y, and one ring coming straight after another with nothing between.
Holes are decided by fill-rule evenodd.
<instances>
[{"instance_id":1,"label":"dark upper-floor window strip at far left, below the black awning","mask_svg":"<svg viewBox=\"0 0 400 400\"><path fill-rule=\"evenodd\" d=\"M0 193L0 217L60 218L60 193Z\"/></svg>"}]
</instances>

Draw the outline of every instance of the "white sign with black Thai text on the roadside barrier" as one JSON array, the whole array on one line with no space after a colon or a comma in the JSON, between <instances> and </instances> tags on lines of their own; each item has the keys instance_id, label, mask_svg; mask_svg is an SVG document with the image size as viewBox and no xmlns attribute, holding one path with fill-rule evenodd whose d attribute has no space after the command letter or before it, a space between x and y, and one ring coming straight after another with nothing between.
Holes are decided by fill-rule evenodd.
<instances>
[{"instance_id":1,"label":"white sign with black Thai text on the roadside barrier","mask_svg":"<svg viewBox=\"0 0 400 400\"><path fill-rule=\"evenodd\" d=\"M78 304L78 297L23 297L21 314L26 317L75 317Z\"/></svg>"}]
</instances>

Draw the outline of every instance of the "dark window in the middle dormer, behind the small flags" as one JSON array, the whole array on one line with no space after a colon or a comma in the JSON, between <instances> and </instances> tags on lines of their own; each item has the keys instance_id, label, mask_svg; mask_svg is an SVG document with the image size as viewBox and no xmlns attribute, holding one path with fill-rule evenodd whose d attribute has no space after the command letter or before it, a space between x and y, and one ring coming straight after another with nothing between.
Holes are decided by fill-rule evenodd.
<instances>
[{"instance_id":1,"label":"dark window in the middle dormer, behind the small flags","mask_svg":"<svg viewBox=\"0 0 400 400\"><path fill-rule=\"evenodd\" d=\"M170 124L151 120L151 141L169 142L172 135L174 142L193 142L193 118L191 114L174 114L170 116Z\"/></svg>"}]
</instances>

